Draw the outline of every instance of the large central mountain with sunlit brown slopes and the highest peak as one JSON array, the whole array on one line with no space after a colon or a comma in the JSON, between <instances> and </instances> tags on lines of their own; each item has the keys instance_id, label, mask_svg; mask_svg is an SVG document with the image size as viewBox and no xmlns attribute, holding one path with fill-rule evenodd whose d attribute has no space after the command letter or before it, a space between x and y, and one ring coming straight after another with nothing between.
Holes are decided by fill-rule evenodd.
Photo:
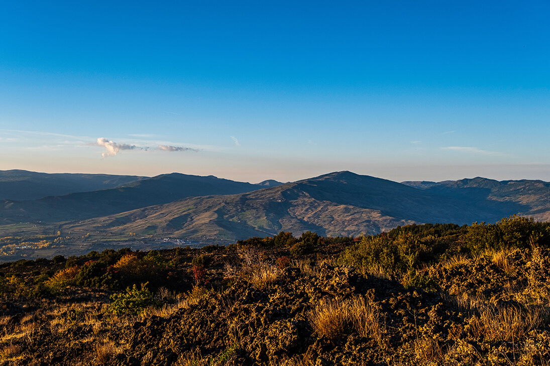
<instances>
[{"instance_id":1,"label":"large central mountain with sunlit brown slopes and the highest peak","mask_svg":"<svg viewBox=\"0 0 550 366\"><path fill-rule=\"evenodd\" d=\"M494 222L530 209L521 202L475 199L343 171L239 195L182 199L65 229L232 240L306 230L356 236L412 223Z\"/></svg>"}]
</instances>

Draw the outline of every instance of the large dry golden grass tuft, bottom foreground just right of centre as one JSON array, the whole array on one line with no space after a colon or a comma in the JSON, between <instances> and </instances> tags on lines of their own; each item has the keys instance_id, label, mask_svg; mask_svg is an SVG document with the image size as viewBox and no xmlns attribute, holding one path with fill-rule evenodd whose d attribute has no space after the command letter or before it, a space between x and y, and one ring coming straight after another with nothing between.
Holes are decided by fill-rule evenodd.
<instances>
[{"instance_id":1,"label":"large dry golden grass tuft, bottom foreground just right of centre","mask_svg":"<svg viewBox=\"0 0 550 366\"><path fill-rule=\"evenodd\" d=\"M350 329L361 336L371 337L378 346L386 344L386 333L379 321L378 309L370 297L366 301L355 297L350 300L322 300L309 312L309 321L318 335L334 340Z\"/></svg>"}]
</instances>

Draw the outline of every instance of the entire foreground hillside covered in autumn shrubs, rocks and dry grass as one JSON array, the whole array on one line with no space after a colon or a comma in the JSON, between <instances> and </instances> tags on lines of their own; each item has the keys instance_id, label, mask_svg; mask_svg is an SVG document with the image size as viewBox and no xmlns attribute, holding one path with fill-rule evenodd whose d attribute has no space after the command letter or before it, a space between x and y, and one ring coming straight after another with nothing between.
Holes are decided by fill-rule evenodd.
<instances>
[{"instance_id":1,"label":"entire foreground hillside covered in autumn shrubs, rocks and dry grass","mask_svg":"<svg viewBox=\"0 0 550 366\"><path fill-rule=\"evenodd\" d=\"M547 234L510 217L4 263L0 363L547 365Z\"/></svg>"}]
</instances>

